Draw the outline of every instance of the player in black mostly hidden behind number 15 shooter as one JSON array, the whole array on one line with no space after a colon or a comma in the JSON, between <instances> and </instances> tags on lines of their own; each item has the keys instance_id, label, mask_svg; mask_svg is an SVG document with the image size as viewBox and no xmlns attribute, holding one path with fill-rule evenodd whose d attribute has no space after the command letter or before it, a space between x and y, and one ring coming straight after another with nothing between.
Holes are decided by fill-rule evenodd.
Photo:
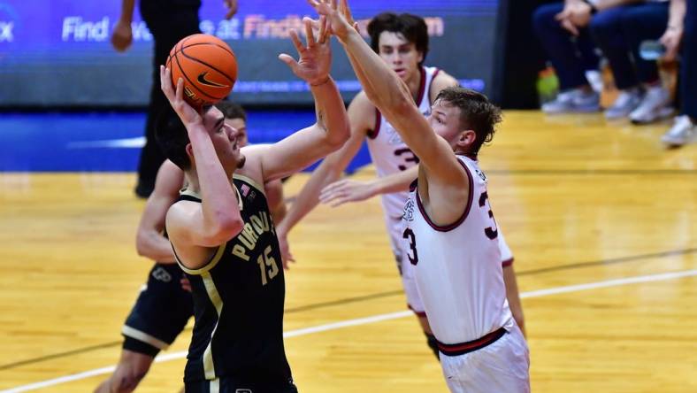
<instances>
[{"instance_id":1,"label":"player in black mostly hidden behind number 15 shooter","mask_svg":"<svg viewBox=\"0 0 697 393\"><path fill-rule=\"evenodd\" d=\"M216 104L225 116L225 123L238 130L238 143L248 144L247 114L238 104L222 101ZM184 173L172 161L165 160L157 171L155 189L145 204L135 239L138 254L157 262L150 270L133 309L121 330L124 335L119 365L96 393L133 391L148 374L157 353L166 350L194 315L188 281L174 261L172 245L164 235L165 214L179 198ZM264 184L274 222L286 212L283 187L279 180Z\"/></svg>"}]
</instances>

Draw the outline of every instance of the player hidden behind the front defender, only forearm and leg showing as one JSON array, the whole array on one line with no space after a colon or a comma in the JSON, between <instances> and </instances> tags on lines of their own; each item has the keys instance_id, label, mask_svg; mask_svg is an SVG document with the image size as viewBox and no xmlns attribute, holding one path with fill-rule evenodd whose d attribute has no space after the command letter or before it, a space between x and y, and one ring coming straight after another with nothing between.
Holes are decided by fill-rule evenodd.
<instances>
[{"instance_id":1,"label":"player hidden behind the front defender, only forearm and leg showing","mask_svg":"<svg viewBox=\"0 0 697 393\"><path fill-rule=\"evenodd\" d=\"M394 173L372 181L355 181L344 179L335 181L322 189L319 201L323 204L331 204L337 207L348 202L364 201L372 196L390 193L407 193L410 184L418 177L418 166L412 166L401 173ZM405 197L404 200L407 198ZM501 227L498 227L499 250L501 251L503 282L506 284L506 298L509 301L510 312L520 330L525 335L525 315L523 304L520 302L520 292L513 268L513 253L510 251L506 239L503 237ZM438 353L436 352L436 356Z\"/></svg>"}]
</instances>

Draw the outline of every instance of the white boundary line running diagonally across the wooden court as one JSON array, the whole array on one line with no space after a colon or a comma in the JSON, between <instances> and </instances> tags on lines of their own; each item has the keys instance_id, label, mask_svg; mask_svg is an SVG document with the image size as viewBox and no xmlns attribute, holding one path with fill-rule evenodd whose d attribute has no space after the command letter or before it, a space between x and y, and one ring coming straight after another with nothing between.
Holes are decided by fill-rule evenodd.
<instances>
[{"instance_id":1,"label":"white boundary line running diagonally across the wooden court","mask_svg":"<svg viewBox=\"0 0 697 393\"><path fill-rule=\"evenodd\" d=\"M639 275L639 276L624 277L624 278L619 278L619 279L614 279L614 280L594 281L594 282L586 282L583 284L564 285L562 287L555 287L555 288L548 288L548 289L537 289L537 290L523 292L520 294L520 297L521 298L546 297L549 295L560 295L560 294L564 294L564 293L579 292L579 291L589 290L589 289L611 288L611 287L618 287L618 286L629 285L629 284L675 280L675 279L681 279L681 278L693 277L693 276L697 276L697 269L681 270L681 271L677 271L677 272L665 272L665 273L660 273L660 274L646 274L646 275ZM341 328L349 328L349 327L354 327L354 326L367 325L367 324L371 324L371 323L382 322L385 320L396 320L396 319L408 317L410 315L412 315L412 312L410 312L410 311L388 312L388 313L384 313L384 314L372 315L369 317L357 318L357 319L353 319L353 320L342 320L339 322L328 323L325 325L318 325L318 326L310 327L310 328L300 328L300 329L290 330L290 331L284 332L283 337L289 338L289 337L295 337L295 336L299 336L299 335L311 335L311 334L315 334L315 333L326 332L328 330L336 330L336 329L341 329ZM172 352L172 353L168 353L168 354L165 354L162 356L157 356L157 358L155 358L155 360L154 360L154 363L163 363L165 361L170 361L170 360L174 360L174 359L186 358L186 356L187 356L187 351ZM25 391L35 390L35 389L48 388L50 386L55 386L55 385L59 385L59 384L63 384L63 383L71 382L71 381L80 381L80 380L83 380L83 379L86 379L89 377L93 377L96 375L110 374L115 369L116 369L116 366L100 367L100 368L84 371L84 372L77 373L77 374L64 375L61 377L52 378L50 380L38 381L38 382L28 383L26 385L20 385L18 387L11 388L11 389L0 390L0 393L20 393L20 392L25 392Z\"/></svg>"}]
</instances>

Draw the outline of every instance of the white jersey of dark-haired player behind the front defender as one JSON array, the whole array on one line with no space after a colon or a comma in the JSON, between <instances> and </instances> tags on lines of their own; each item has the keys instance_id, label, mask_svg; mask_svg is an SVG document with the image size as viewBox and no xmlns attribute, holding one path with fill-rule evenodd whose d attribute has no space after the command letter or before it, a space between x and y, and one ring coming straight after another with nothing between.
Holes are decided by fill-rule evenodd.
<instances>
[{"instance_id":1,"label":"white jersey of dark-haired player behind the front defender","mask_svg":"<svg viewBox=\"0 0 697 393\"><path fill-rule=\"evenodd\" d=\"M438 68L421 67L421 86L418 89L416 104L424 116L431 113L429 92L431 91L431 82L438 73ZM402 142L402 137L394 127L382 117L378 110L375 111L375 116L375 130L371 135L368 135L368 150L371 153L372 163L375 165L378 177L404 171L417 165L418 158ZM385 215L395 219L402 217L404 201L407 200L408 196L407 191L383 194L381 197Z\"/></svg>"}]
</instances>

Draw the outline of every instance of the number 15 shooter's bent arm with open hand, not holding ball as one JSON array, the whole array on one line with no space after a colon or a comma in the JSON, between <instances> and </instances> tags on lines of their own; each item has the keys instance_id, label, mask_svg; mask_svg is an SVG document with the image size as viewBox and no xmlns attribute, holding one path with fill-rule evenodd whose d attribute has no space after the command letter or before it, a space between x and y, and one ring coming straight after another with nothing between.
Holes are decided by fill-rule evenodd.
<instances>
[{"instance_id":1,"label":"number 15 shooter's bent arm with open hand, not holding ball","mask_svg":"<svg viewBox=\"0 0 697 393\"><path fill-rule=\"evenodd\" d=\"M320 32L318 38L315 37L310 19L304 19L303 22L307 45L303 46L295 30L290 33L300 58L296 61L285 53L279 58L295 75L310 84L310 91L315 99L317 123L268 148L262 156L264 181L295 173L341 148L349 139L346 108L339 89L329 75L332 65L329 40L324 32Z\"/></svg>"}]
</instances>

